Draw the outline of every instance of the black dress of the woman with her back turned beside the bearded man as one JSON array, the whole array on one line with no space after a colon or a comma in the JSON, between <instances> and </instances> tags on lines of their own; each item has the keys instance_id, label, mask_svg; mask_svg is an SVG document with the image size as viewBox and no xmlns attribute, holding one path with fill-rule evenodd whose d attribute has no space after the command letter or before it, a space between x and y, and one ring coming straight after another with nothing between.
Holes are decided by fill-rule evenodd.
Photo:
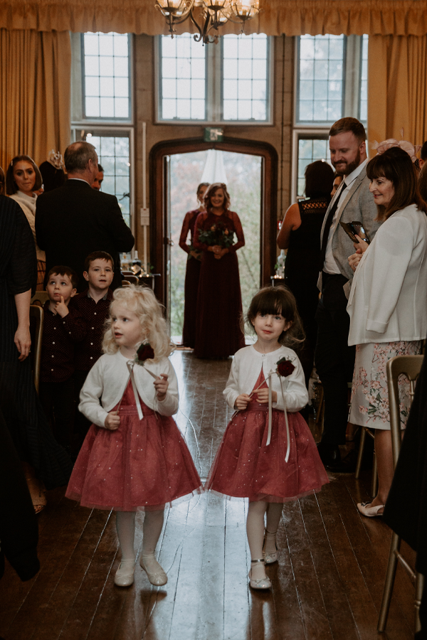
<instances>
[{"instance_id":1,"label":"black dress of the woman with her back turned beside the bearded man","mask_svg":"<svg viewBox=\"0 0 427 640\"><path fill-rule=\"evenodd\" d=\"M315 314L319 302L320 231L330 198L300 201L301 225L290 233L285 260L285 284L297 301L305 330L305 345L300 356L305 380L308 382L313 368L317 339Z\"/></svg>"}]
</instances>

